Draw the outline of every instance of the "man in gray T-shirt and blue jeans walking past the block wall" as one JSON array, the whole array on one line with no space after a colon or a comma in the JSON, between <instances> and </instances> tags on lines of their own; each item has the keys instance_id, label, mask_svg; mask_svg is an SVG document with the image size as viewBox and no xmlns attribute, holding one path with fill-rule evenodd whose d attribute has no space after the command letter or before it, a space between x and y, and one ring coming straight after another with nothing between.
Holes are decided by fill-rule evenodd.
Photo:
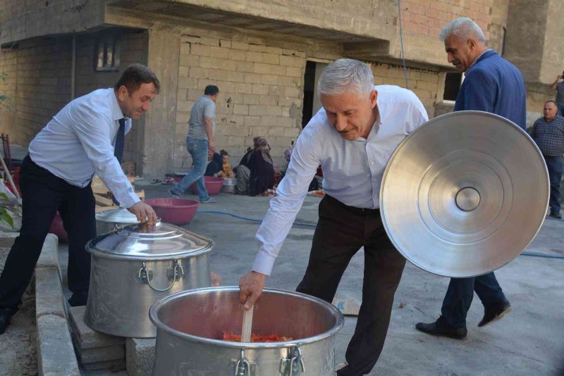
<instances>
[{"instance_id":1,"label":"man in gray T-shirt and blue jeans walking past the block wall","mask_svg":"<svg viewBox=\"0 0 564 376\"><path fill-rule=\"evenodd\" d=\"M171 196L180 197L190 185L196 183L201 203L215 202L209 196L204 183L204 173L207 167L208 152L215 152L214 132L216 128L216 101L219 89L215 85L208 85L204 89L204 96L198 99L190 109L188 122L188 137L186 149L192 156L194 168L170 190Z\"/></svg>"}]
</instances>

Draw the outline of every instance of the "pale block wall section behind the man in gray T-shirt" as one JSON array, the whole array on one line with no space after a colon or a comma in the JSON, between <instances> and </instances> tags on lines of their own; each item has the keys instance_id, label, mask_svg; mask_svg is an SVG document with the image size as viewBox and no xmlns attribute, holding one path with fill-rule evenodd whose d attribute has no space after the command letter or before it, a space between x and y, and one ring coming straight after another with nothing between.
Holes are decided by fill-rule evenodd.
<instances>
[{"instance_id":1,"label":"pale block wall section behind the man in gray T-shirt","mask_svg":"<svg viewBox=\"0 0 564 376\"><path fill-rule=\"evenodd\" d=\"M305 51L240 42L209 35L183 35L176 104L175 170L189 169L185 147L190 108L208 84L219 87L216 149L226 149L233 164L266 137L274 158L301 130Z\"/></svg>"}]
</instances>

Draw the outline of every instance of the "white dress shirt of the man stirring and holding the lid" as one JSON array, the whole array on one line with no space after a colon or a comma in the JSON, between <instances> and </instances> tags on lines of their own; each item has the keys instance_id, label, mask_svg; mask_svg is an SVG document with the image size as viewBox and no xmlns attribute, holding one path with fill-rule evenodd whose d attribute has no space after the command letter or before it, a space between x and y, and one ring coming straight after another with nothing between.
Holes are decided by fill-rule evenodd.
<instances>
[{"instance_id":1,"label":"white dress shirt of the man stirring and holding the lid","mask_svg":"<svg viewBox=\"0 0 564 376\"><path fill-rule=\"evenodd\" d=\"M407 134L429 118L410 90L391 85L374 89L378 92L379 115L368 139L343 139L329 123L324 108L309 120L276 189L278 196L271 199L257 232L260 248L252 270L270 275L319 165L327 194L348 206L379 208L380 184L388 159Z\"/></svg>"}]
</instances>

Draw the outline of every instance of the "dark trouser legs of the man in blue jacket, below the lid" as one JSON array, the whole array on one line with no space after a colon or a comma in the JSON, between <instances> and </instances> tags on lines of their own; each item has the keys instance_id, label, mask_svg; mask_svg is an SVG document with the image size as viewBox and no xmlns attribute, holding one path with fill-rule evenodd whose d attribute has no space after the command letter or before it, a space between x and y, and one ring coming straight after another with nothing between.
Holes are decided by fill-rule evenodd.
<instances>
[{"instance_id":1,"label":"dark trouser legs of the man in blue jacket, below the lid","mask_svg":"<svg viewBox=\"0 0 564 376\"><path fill-rule=\"evenodd\" d=\"M474 291L486 309L505 300L494 272L473 278L450 278L441 308L441 315L448 325L457 329L466 327L466 314L472 304Z\"/></svg>"}]
</instances>

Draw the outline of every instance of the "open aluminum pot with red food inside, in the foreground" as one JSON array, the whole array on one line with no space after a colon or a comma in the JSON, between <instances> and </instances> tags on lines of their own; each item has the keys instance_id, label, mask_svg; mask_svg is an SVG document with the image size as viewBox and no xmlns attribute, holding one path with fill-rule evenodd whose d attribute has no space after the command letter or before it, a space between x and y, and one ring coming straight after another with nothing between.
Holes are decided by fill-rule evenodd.
<instances>
[{"instance_id":1,"label":"open aluminum pot with red food inside, in the foreground","mask_svg":"<svg viewBox=\"0 0 564 376\"><path fill-rule=\"evenodd\" d=\"M222 341L240 334L243 306L237 287L181 292L154 304L157 326L153 375L333 375L335 336L343 327L337 308L313 296L265 289L255 303L252 332L292 341Z\"/></svg>"}]
</instances>

